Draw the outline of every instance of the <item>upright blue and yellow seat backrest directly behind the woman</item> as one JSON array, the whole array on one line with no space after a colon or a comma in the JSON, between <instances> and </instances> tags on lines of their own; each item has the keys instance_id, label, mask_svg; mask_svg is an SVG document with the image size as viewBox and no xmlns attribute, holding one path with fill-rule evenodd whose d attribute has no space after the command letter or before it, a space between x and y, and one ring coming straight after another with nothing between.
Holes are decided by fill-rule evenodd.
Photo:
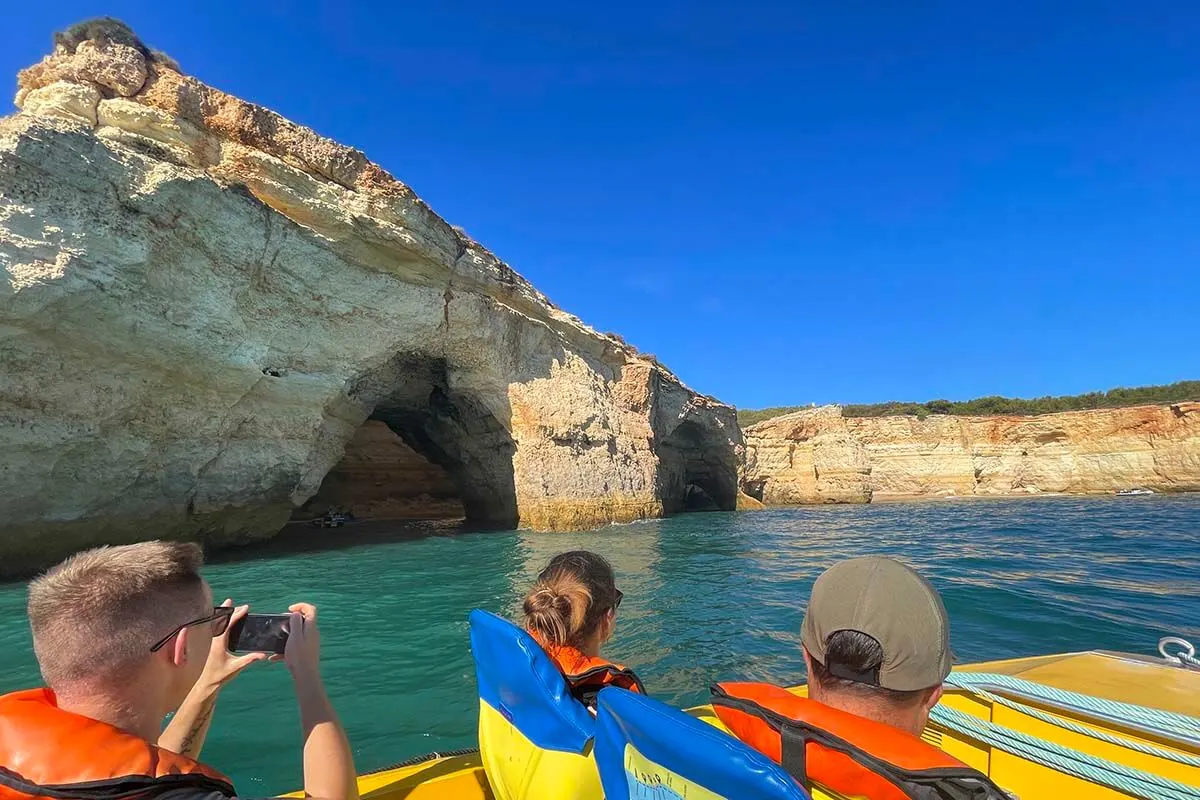
<instances>
[{"instance_id":1,"label":"upright blue and yellow seat backrest directly behind the woman","mask_svg":"<svg viewBox=\"0 0 1200 800\"><path fill-rule=\"evenodd\" d=\"M595 717L533 637L475 609L470 649L480 757L497 800L602 798L592 758Z\"/></svg>"}]
</instances>

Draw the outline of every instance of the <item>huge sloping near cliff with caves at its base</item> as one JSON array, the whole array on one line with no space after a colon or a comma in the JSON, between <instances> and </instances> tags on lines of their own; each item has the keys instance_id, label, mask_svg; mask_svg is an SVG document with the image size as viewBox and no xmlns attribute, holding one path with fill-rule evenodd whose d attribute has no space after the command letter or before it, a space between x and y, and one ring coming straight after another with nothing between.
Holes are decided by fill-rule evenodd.
<instances>
[{"instance_id":1,"label":"huge sloping near cliff with caves at its base","mask_svg":"<svg viewBox=\"0 0 1200 800\"><path fill-rule=\"evenodd\" d=\"M478 524L592 527L697 491L734 507L732 409L556 308L362 154L112 25L61 38L17 106L4 572L98 542L271 536L331 470L334 494L364 474L356 445L335 467L368 421ZM413 480L437 516L434 477Z\"/></svg>"}]
</instances>

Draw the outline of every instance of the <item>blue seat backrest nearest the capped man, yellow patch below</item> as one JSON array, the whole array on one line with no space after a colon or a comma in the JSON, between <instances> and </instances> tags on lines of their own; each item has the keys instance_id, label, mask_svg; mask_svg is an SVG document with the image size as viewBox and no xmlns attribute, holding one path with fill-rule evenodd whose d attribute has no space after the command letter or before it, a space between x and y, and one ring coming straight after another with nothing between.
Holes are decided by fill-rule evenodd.
<instances>
[{"instance_id":1,"label":"blue seat backrest nearest the capped man, yellow patch below","mask_svg":"<svg viewBox=\"0 0 1200 800\"><path fill-rule=\"evenodd\" d=\"M809 800L781 766L727 733L634 692L601 690L595 756L607 800Z\"/></svg>"}]
</instances>

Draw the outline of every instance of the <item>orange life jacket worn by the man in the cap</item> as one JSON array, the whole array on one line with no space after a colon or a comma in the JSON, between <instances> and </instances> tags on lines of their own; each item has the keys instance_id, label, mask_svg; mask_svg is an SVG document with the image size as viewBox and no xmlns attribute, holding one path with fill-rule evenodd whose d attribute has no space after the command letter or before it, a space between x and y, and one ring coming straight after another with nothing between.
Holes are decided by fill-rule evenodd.
<instances>
[{"instance_id":1,"label":"orange life jacket worn by the man in the cap","mask_svg":"<svg viewBox=\"0 0 1200 800\"><path fill-rule=\"evenodd\" d=\"M1007 800L988 776L918 736L769 684L719 684L713 710L805 788L871 800Z\"/></svg>"}]
</instances>

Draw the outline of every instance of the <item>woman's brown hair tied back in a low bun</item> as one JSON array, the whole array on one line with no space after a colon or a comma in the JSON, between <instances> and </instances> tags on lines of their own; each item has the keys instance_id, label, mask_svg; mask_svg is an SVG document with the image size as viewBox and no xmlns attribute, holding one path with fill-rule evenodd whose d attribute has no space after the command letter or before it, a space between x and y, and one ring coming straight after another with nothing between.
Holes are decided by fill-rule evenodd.
<instances>
[{"instance_id":1,"label":"woman's brown hair tied back in a low bun","mask_svg":"<svg viewBox=\"0 0 1200 800\"><path fill-rule=\"evenodd\" d=\"M587 551L554 557L526 596L526 628L552 648L578 648L617 603L612 567Z\"/></svg>"}]
</instances>

